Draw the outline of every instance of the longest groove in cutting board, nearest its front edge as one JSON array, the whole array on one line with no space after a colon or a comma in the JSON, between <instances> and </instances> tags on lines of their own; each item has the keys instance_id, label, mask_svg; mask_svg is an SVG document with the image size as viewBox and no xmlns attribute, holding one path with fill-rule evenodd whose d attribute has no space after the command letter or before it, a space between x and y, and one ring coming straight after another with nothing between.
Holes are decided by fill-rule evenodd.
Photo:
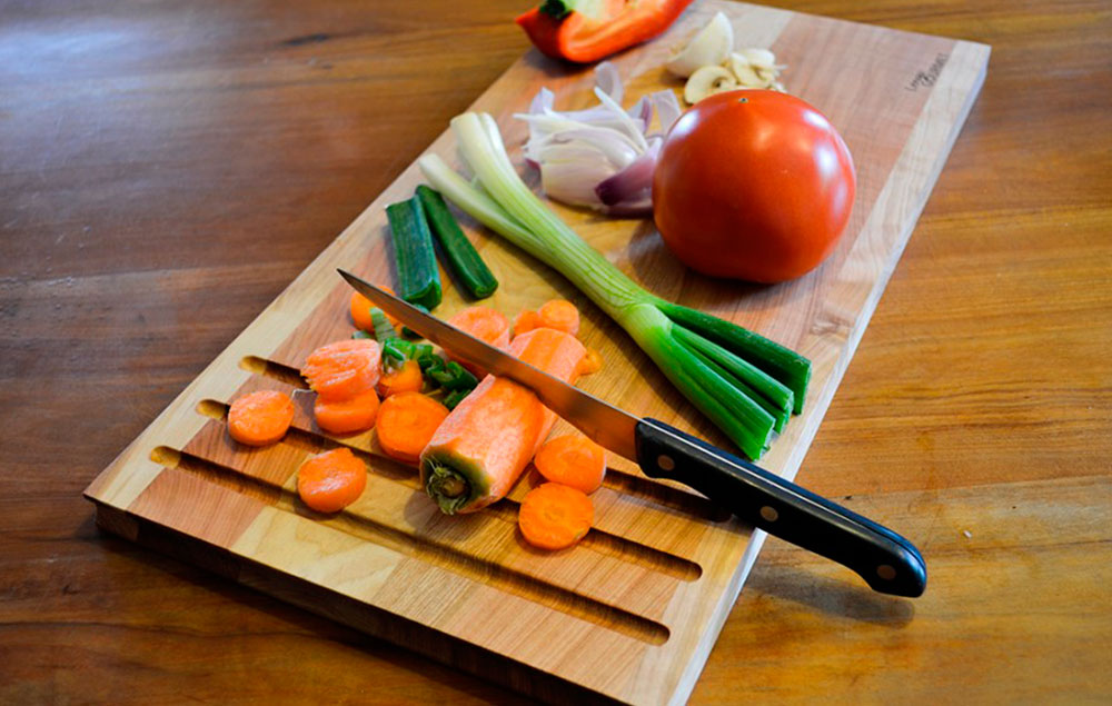
<instances>
[{"instance_id":1,"label":"longest groove in cutting board, nearest its front edge","mask_svg":"<svg viewBox=\"0 0 1112 706\"><path fill-rule=\"evenodd\" d=\"M626 637L658 646L665 644L671 636L667 626L656 620L584 596L496 561L469 555L450 545L437 543L429 537L413 535L347 510L335 515L314 513L297 499L295 493L281 486L244 475L235 468L221 466L192 454L160 446L151 451L150 458L161 466L197 475L209 483L239 493L264 496L280 510L318 519L327 523L332 529L364 541L371 541L424 564L485 584L499 591Z\"/></svg>"}]
</instances>

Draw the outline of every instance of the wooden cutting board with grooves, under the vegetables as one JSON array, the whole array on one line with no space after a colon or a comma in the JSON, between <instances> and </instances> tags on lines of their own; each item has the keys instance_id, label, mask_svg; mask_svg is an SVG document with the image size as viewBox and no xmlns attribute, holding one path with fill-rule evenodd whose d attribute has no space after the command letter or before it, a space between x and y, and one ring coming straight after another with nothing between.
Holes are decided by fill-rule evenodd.
<instances>
[{"instance_id":1,"label":"wooden cutting board with grooves, under the vegetables","mask_svg":"<svg viewBox=\"0 0 1112 706\"><path fill-rule=\"evenodd\" d=\"M648 290L812 359L807 407L762 459L792 478L976 98L989 48L707 1L666 36L614 60L627 105L648 90L682 88L662 68L669 48L718 10L733 20L737 48L770 47L788 64L787 89L825 112L854 155L857 200L835 253L794 282L717 281L681 267L649 221L556 210ZM568 70L530 51L474 105L498 119L518 162L525 129L512 115L542 86L556 92L557 108L594 102L589 69ZM429 150L458 163L447 132ZM515 526L535 471L497 506L445 517L413 468L381 456L374 432L330 438L314 426L311 394L300 389L296 369L312 348L354 330L335 268L393 282L385 207L419 182L410 166L89 486L98 524L542 699L685 700L761 533L614 459L594 496L587 538L563 553L538 553ZM486 304L508 316L553 297L580 307L582 337L606 360L584 388L726 444L559 275L475 223L464 226L502 282ZM445 282L437 314L446 318L467 302L446 276ZM230 440L222 416L236 396L260 388L292 392L298 416L284 441L247 450ZM370 476L359 501L324 516L299 503L295 473L309 455L338 445L365 458ZM898 528L900 518L877 519ZM858 579L847 571L846 580Z\"/></svg>"}]
</instances>

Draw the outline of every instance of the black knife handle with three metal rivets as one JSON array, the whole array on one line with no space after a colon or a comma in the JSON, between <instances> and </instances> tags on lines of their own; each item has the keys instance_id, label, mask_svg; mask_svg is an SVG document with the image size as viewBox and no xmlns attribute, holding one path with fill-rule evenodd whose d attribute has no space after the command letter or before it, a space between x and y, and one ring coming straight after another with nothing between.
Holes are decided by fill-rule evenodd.
<instances>
[{"instance_id":1,"label":"black knife handle with three metal rivets","mask_svg":"<svg viewBox=\"0 0 1112 706\"><path fill-rule=\"evenodd\" d=\"M743 521L853 569L874 590L923 595L926 563L891 529L663 421L642 419L636 438L646 476L698 490Z\"/></svg>"}]
</instances>

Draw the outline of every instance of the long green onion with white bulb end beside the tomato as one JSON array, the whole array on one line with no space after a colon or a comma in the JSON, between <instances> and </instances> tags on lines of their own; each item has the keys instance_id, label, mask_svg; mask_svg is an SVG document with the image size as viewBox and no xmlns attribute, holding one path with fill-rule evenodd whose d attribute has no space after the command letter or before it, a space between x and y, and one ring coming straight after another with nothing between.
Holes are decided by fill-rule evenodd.
<instances>
[{"instance_id":1,"label":"long green onion with white bulb end beside the tomato","mask_svg":"<svg viewBox=\"0 0 1112 706\"><path fill-rule=\"evenodd\" d=\"M758 458L787 410L803 408L811 362L717 317L665 301L584 242L522 181L488 115L451 121L468 182L436 155L419 163L448 200L547 262L610 316L664 375L749 458Z\"/></svg>"}]
</instances>

